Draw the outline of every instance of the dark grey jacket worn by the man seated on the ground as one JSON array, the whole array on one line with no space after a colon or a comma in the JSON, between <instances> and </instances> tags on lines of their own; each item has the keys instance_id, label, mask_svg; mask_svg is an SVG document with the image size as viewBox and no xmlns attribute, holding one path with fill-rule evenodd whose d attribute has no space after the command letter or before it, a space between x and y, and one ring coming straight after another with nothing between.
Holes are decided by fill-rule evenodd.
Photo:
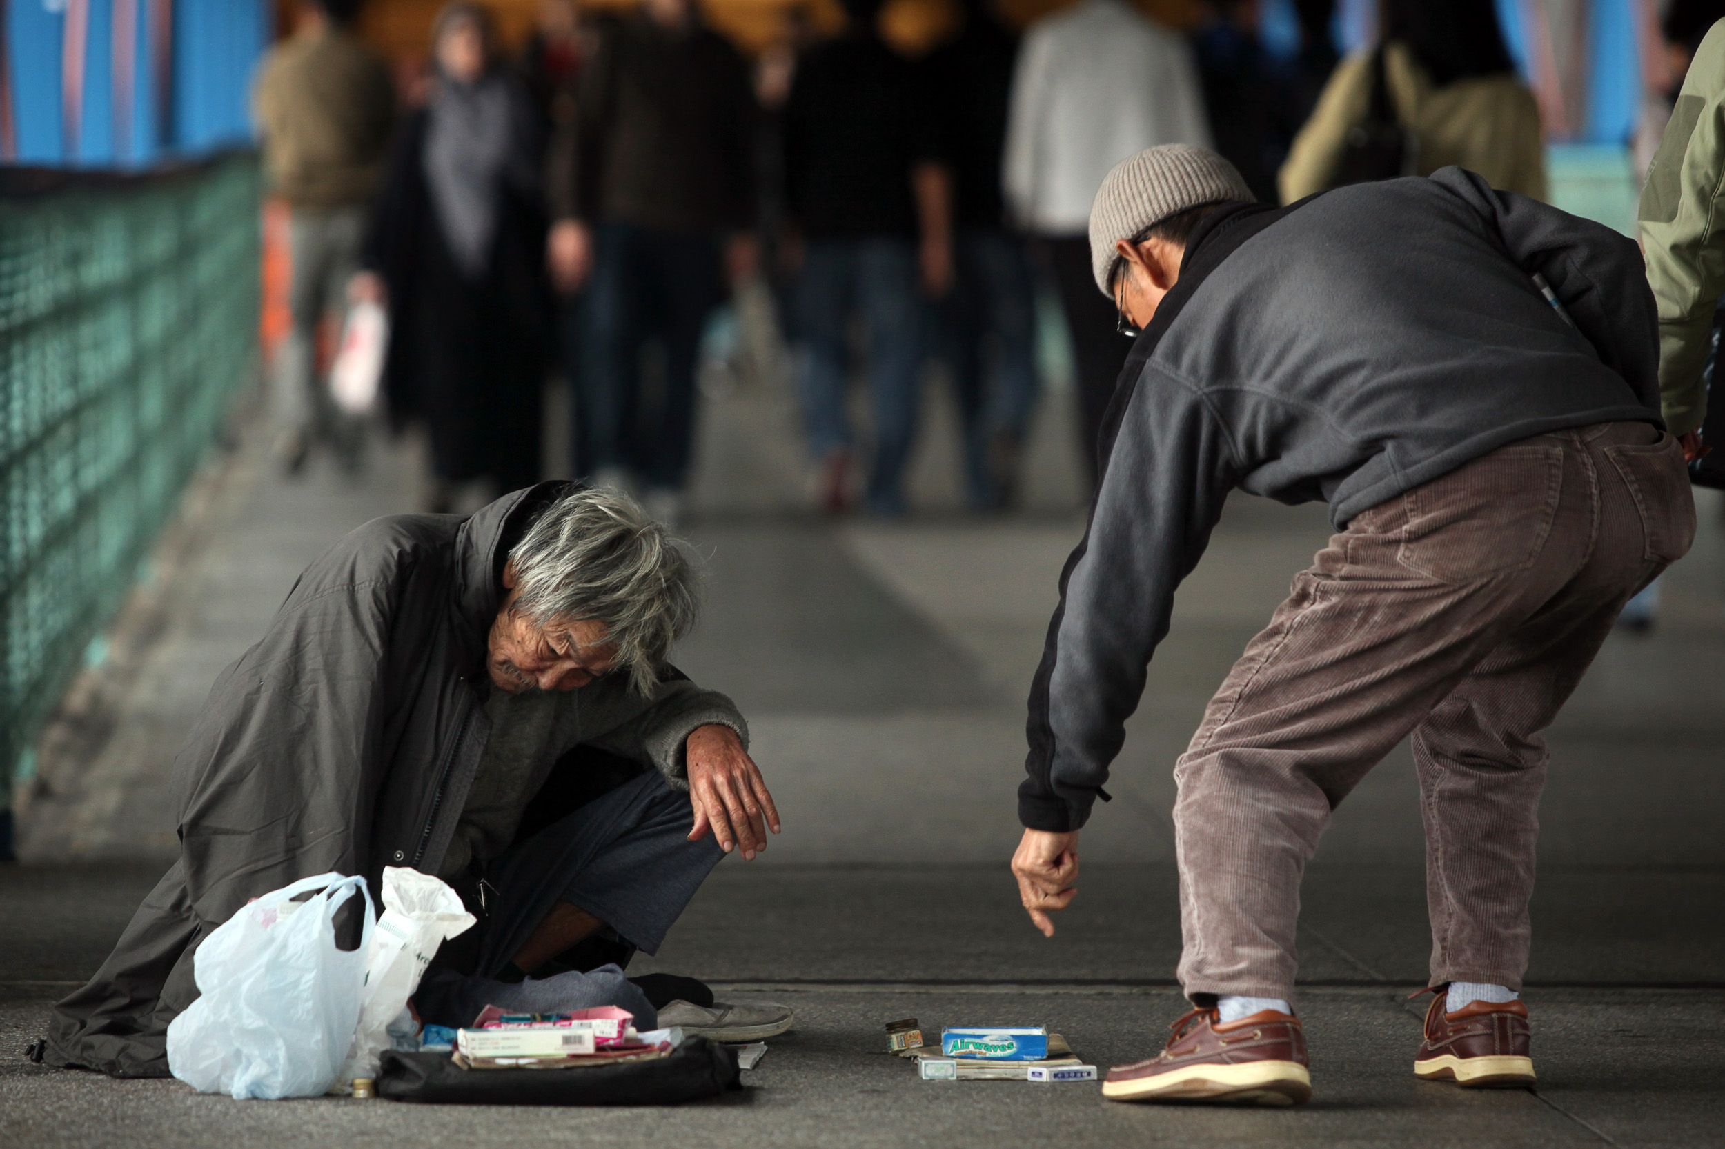
<instances>
[{"instance_id":1,"label":"dark grey jacket worn by the man seated on the ground","mask_svg":"<svg viewBox=\"0 0 1725 1149\"><path fill-rule=\"evenodd\" d=\"M312 562L264 638L224 669L174 761L181 854L88 985L55 1006L45 1059L167 1077L167 1023L197 995L198 944L252 897L317 873L436 873L490 733L486 633L502 568L568 490L540 483L471 518L402 514ZM671 673L578 692L581 738L633 728L633 756L683 782L683 738L742 718Z\"/></svg>"}]
</instances>

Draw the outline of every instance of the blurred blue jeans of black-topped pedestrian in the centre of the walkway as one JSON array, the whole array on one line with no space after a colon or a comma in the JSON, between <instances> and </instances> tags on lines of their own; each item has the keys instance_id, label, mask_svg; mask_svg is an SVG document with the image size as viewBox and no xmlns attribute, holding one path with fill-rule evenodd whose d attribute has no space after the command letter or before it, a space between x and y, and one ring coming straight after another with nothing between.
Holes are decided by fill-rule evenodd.
<instances>
[{"instance_id":1,"label":"blurred blue jeans of black-topped pedestrian in the centre of the walkway","mask_svg":"<svg viewBox=\"0 0 1725 1149\"><path fill-rule=\"evenodd\" d=\"M904 514L904 468L916 438L926 328L916 245L897 236L811 240L794 295L809 449L825 459L852 443L845 383L856 312L868 335L875 414L868 505L876 514Z\"/></svg>"}]
</instances>

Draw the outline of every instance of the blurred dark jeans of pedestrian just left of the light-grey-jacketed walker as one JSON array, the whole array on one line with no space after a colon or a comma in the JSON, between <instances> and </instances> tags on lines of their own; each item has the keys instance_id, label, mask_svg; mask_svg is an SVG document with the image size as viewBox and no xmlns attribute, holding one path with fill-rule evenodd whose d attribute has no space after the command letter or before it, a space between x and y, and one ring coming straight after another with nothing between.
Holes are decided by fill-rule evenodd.
<instances>
[{"instance_id":1,"label":"blurred dark jeans of pedestrian just left of the light-grey-jacketed walker","mask_svg":"<svg viewBox=\"0 0 1725 1149\"><path fill-rule=\"evenodd\" d=\"M997 507L1011 481L992 466L1000 440L1016 462L1037 407L1037 297L1025 242L1006 231L959 231L952 295L942 307L964 435L964 493L976 511Z\"/></svg>"}]
</instances>

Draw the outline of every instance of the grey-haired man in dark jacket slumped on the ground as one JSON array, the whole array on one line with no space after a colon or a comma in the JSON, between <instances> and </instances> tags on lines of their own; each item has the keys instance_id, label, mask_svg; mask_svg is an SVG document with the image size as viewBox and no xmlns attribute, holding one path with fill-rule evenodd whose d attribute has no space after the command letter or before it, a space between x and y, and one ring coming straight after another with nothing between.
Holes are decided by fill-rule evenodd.
<instances>
[{"instance_id":1,"label":"grey-haired man in dark jacket slumped on the ground","mask_svg":"<svg viewBox=\"0 0 1725 1149\"><path fill-rule=\"evenodd\" d=\"M45 1059L166 1077L198 944L317 873L435 873L480 926L419 1014L619 1004L721 1040L790 1027L693 978L624 980L724 852L778 811L730 699L666 662L695 621L685 543L626 497L540 483L471 518L376 519L312 562L223 671L174 763L181 854Z\"/></svg>"}]
</instances>

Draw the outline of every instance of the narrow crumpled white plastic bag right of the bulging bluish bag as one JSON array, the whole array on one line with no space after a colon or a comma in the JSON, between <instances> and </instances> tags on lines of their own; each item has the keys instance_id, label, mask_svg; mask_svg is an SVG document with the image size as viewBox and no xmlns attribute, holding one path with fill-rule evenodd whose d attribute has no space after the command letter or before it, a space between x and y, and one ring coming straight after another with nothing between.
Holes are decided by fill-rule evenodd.
<instances>
[{"instance_id":1,"label":"narrow crumpled white plastic bag right of the bulging bluish bag","mask_svg":"<svg viewBox=\"0 0 1725 1149\"><path fill-rule=\"evenodd\" d=\"M438 878L407 866L383 868L383 916L366 959L366 997L336 1089L352 1090L355 1077L378 1075L378 1054L393 1045L390 1025L407 1011L443 939L474 923L461 895Z\"/></svg>"}]
</instances>

